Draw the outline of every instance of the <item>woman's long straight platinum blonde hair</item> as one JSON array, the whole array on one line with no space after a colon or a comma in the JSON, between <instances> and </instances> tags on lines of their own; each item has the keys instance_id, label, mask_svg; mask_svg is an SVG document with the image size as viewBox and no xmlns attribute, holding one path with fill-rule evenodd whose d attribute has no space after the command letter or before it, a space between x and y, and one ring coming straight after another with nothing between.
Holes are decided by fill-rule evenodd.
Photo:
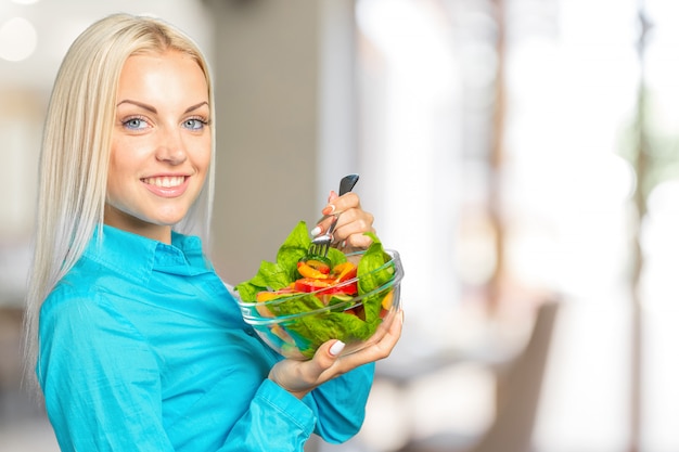
<instances>
[{"instance_id":1,"label":"woman's long straight platinum blonde hair","mask_svg":"<svg viewBox=\"0 0 679 452\"><path fill-rule=\"evenodd\" d=\"M73 42L59 69L42 139L34 261L26 300L26 370L34 384L30 371L38 359L42 302L103 224L123 65L130 55L169 50L190 55L205 74L214 124L214 93L204 55L191 38L157 18L114 14L95 22ZM187 217L175 227L204 240L214 192L214 127L212 134L213 162L205 185Z\"/></svg>"}]
</instances>

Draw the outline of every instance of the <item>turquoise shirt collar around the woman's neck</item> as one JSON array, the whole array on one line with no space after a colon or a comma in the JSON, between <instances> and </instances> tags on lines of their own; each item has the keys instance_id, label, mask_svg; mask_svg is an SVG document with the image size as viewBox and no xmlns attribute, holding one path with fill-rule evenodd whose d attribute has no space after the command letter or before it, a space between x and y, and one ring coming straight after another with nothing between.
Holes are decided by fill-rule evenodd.
<instances>
[{"instance_id":1,"label":"turquoise shirt collar around the woman's neck","mask_svg":"<svg viewBox=\"0 0 679 452\"><path fill-rule=\"evenodd\" d=\"M85 256L130 277L146 281L154 271L184 276L212 271L197 236L172 231L171 245L110 225L95 230Z\"/></svg>"}]
</instances>

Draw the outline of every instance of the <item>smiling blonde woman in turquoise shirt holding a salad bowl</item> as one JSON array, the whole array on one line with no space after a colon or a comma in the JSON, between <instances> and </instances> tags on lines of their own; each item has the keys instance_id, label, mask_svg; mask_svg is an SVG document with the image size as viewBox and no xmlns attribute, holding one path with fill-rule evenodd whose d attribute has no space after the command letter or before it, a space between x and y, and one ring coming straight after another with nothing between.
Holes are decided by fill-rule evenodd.
<instances>
[{"instance_id":1,"label":"smiling blonde woman in turquoise shirt holding a salad bowl","mask_svg":"<svg viewBox=\"0 0 679 452\"><path fill-rule=\"evenodd\" d=\"M171 26L125 14L76 39L41 156L27 306L30 365L64 451L299 451L355 435L373 362L396 345L283 360L242 321L197 236L209 224L214 100L207 64ZM338 241L362 247L355 194ZM319 225L322 231L322 225ZM318 232L318 229L317 229Z\"/></svg>"}]
</instances>

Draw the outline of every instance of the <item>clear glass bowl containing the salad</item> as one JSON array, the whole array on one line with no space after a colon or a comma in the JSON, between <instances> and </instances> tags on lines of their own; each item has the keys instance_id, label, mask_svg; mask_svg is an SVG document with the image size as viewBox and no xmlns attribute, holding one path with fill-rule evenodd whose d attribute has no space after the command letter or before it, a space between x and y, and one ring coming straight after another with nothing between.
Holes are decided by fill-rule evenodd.
<instances>
[{"instance_id":1,"label":"clear glass bowl containing the salad","mask_svg":"<svg viewBox=\"0 0 679 452\"><path fill-rule=\"evenodd\" d=\"M374 344L388 331L400 306L403 268L398 251L385 253L392 259L382 267L331 288L260 302L242 301L236 293L243 319L269 347L296 360L310 359L330 339L346 344L342 354ZM362 254L349 254L347 260L358 263ZM381 281L379 287L357 296L336 295L342 292L337 289L360 287L368 279Z\"/></svg>"}]
</instances>

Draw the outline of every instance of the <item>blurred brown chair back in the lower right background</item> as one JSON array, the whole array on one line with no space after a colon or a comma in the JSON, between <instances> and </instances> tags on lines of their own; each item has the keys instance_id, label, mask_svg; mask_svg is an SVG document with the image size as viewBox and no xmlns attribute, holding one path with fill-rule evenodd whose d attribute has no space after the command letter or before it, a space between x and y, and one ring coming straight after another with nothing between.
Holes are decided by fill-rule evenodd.
<instances>
[{"instance_id":1,"label":"blurred brown chair back in the lower right background","mask_svg":"<svg viewBox=\"0 0 679 452\"><path fill-rule=\"evenodd\" d=\"M498 369L496 414L477 438L454 432L413 438L398 452L529 452L559 301L538 308L524 349Z\"/></svg>"}]
</instances>

